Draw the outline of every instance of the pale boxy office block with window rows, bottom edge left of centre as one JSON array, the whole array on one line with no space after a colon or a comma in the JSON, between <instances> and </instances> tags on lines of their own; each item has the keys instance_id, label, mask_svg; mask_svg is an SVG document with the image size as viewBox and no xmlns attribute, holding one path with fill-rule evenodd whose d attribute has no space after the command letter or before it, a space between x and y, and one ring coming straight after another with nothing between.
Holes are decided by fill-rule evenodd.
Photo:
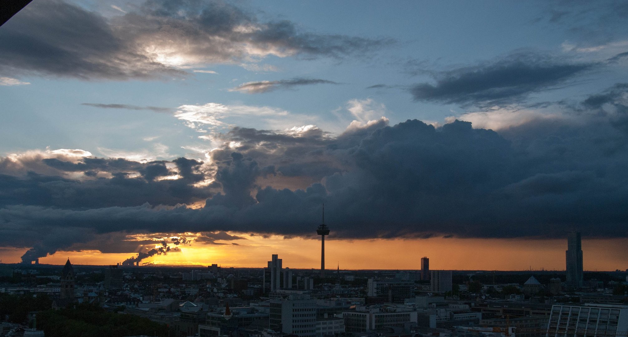
<instances>
[{"instance_id":1,"label":"pale boxy office block with window rows, bottom edge left of centre","mask_svg":"<svg viewBox=\"0 0 628 337\"><path fill-rule=\"evenodd\" d=\"M271 299L269 329L300 337L315 336L317 328L316 300L306 295L291 295L288 299Z\"/></svg>"}]
</instances>

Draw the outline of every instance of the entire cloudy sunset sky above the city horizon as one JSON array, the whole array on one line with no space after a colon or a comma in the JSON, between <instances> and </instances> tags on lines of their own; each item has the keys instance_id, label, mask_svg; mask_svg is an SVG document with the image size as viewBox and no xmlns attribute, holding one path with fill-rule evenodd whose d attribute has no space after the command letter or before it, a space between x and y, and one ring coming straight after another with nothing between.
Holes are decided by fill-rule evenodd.
<instances>
[{"instance_id":1,"label":"entire cloudy sunset sky above the city horizon","mask_svg":"<svg viewBox=\"0 0 628 337\"><path fill-rule=\"evenodd\" d=\"M624 1L34 0L4 263L627 269ZM473 254L470 254L473 252Z\"/></svg>"}]
</instances>

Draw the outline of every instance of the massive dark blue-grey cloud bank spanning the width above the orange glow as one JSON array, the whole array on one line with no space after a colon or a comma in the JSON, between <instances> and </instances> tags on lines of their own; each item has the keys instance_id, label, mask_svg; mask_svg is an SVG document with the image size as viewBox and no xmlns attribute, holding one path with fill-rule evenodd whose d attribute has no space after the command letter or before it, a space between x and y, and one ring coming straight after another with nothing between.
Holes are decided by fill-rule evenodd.
<instances>
[{"instance_id":1,"label":"massive dark blue-grey cloud bank spanning the width above the orange glow","mask_svg":"<svg viewBox=\"0 0 628 337\"><path fill-rule=\"evenodd\" d=\"M0 246L31 248L29 261L138 233L202 233L210 244L241 239L224 231L311 236L322 203L335 237L626 237L625 88L590 97L573 118L499 133L382 119L337 137L236 127L205 162L14 154L0 159Z\"/></svg>"}]
</instances>

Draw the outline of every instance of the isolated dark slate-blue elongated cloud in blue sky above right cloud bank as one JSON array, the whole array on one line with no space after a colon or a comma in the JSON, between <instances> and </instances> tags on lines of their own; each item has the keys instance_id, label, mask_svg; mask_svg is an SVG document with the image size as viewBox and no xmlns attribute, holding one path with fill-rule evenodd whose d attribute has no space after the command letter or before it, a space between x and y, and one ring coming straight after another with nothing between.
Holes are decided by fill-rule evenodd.
<instances>
[{"instance_id":1,"label":"isolated dark slate-blue elongated cloud in blue sky above right cloud bank","mask_svg":"<svg viewBox=\"0 0 628 337\"><path fill-rule=\"evenodd\" d=\"M419 83L414 100L461 105L509 104L563 85L596 63L571 63L536 53L517 53L495 62L437 73L435 84Z\"/></svg>"}]
</instances>

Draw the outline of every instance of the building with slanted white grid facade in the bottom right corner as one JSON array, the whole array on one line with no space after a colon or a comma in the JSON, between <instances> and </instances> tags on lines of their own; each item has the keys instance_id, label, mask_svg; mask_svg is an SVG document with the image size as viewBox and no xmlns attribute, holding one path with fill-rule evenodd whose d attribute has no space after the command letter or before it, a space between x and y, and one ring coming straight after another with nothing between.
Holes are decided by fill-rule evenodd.
<instances>
[{"instance_id":1,"label":"building with slanted white grid facade in the bottom right corner","mask_svg":"<svg viewBox=\"0 0 628 337\"><path fill-rule=\"evenodd\" d=\"M554 305L546 337L620 337L626 336L626 331L627 305Z\"/></svg>"}]
</instances>

